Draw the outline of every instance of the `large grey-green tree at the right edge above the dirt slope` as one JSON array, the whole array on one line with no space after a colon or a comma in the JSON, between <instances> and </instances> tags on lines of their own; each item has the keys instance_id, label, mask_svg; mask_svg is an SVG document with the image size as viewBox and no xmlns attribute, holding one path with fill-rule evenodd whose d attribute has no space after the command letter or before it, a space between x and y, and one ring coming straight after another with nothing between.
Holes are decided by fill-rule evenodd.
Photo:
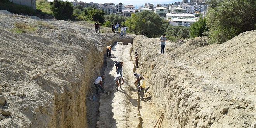
<instances>
[{"instance_id":1,"label":"large grey-green tree at the right edge above the dirt slope","mask_svg":"<svg viewBox=\"0 0 256 128\"><path fill-rule=\"evenodd\" d=\"M256 29L255 0L208 0L207 25L210 43L224 43Z\"/></svg>"}]
</instances>

